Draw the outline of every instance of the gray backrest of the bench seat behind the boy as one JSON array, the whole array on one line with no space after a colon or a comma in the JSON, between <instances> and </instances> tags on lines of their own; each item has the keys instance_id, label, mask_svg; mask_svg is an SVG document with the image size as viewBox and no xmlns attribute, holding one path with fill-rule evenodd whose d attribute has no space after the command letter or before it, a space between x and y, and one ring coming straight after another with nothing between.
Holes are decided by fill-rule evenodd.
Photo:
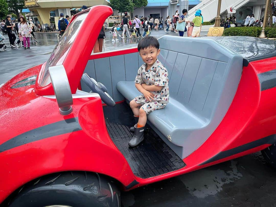
<instances>
[{"instance_id":1,"label":"gray backrest of the bench seat behind the boy","mask_svg":"<svg viewBox=\"0 0 276 207\"><path fill-rule=\"evenodd\" d=\"M212 39L165 35L158 40L170 97L203 119L210 120L217 109L226 113L240 81L241 55Z\"/></svg>"}]
</instances>

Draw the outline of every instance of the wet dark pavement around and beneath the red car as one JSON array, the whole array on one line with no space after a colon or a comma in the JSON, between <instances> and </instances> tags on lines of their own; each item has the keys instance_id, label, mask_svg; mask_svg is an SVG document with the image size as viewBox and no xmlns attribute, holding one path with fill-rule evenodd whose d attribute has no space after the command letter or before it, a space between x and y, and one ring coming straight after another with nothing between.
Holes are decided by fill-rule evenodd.
<instances>
[{"instance_id":1,"label":"wet dark pavement around and beneath the red car","mask_svg":"<svg viewBox=\"0 0 276 207\"><path fill-rule=\"evenodd\" d=\"M163 31L153 31L160 37ZM172 34L170 32L169 34ZM35 33L31 49L0 49L0 84L45 62L57 43L58 33ZM178 34L172 34L178 35ZM204 34L203 34L204 35ZM105 51L137 46L138 40L112 42L106 32ZM254 153L205 169L122 193L123 207L276 206L276 173L261 153Z\"/></svg>"}]
</instances>

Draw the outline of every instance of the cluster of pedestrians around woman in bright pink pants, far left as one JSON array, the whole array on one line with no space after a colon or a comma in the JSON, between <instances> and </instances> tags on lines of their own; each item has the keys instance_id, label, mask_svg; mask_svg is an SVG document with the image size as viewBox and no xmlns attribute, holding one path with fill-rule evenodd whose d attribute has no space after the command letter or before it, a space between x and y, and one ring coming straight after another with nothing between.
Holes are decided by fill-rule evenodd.
<instances>
[{"instance_id":1,"label":"cluster of pedestrians around woman in bright pink pants, far left","mask_svg":"<svg viewBox=\"0 0 276 207\"><path fill-rule=\"evenodd\" d=\"M24 49L30 49L30 38L35 38L34 27L33 20L26 20L23 16L18 18L17 21L11 20L10 16L7 16L5 20L1 20L2 35L8 35L10 48L19 47L20 42L22 42ZM17 42L15 42L16 35L18 36Z\"/></svg>"}]
</instances>

